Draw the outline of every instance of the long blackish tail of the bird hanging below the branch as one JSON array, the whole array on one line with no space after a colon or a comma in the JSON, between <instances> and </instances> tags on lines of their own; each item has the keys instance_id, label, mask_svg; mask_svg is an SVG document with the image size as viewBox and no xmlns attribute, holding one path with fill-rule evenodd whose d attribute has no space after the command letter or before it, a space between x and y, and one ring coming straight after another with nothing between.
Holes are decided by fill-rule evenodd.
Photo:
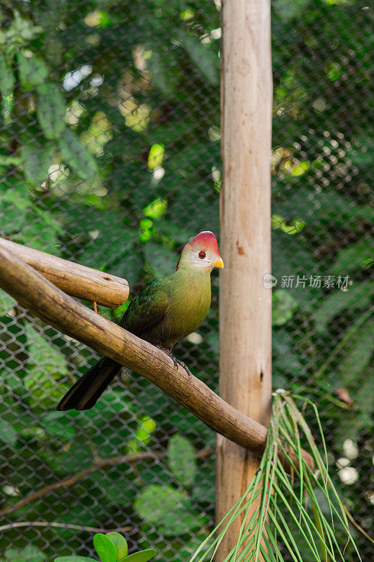
<instances>
[{"instance_id":1,"label":"long blackish tail of the bird hanging below the branch","mask_svg":"<svg viewBox=\"0 0 374 562\"><path fill-rule=\"evenodd\" d=\"M120 369L119 363L109 357L102 357L69 388L57 410L89 410Z\"/></svg>"}]
</instances>

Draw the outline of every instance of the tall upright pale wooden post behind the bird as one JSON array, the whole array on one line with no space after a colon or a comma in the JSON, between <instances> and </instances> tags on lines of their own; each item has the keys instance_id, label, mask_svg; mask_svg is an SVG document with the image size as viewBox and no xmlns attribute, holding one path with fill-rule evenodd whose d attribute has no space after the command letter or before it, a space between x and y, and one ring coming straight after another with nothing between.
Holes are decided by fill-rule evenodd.
<instances>
[{"instance_id":1,"label":"tall upright pale wooden post behind the bird","mask_svg":"<svg viewBox=\"0 0 374 562\"><path fill-rule=\"evenodd\" d=\"M270 152L272 68L269 0L223 0L220 247L220 396L261 424L272 392ZM246 490L258 458L218 436L216 520ZM236 544L229 528L216 562Z\"/></svg>"}]
</instances>

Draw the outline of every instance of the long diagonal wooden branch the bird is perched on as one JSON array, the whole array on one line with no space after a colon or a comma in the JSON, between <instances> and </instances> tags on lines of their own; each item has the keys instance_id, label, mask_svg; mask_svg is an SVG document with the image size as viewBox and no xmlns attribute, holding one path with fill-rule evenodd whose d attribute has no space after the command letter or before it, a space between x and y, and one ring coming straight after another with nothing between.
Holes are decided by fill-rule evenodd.
<instances>
[{"instance_id":1,"label":"long diagonal wooden branch the bird is perched on","mask_svg":"<svg viewBox=\"0 0 374 562\"><path fill-rule=\"evenodd\" d=\"M69 263L69 262L68 262ZM207 426L238 445L261 455L267 429L229 405L196 377L180 367L159 348L127 332L74 301L43 275L0 243L0 287L23 306L64 334L107 355L159 386ZM298 458L290 451L298 466ZM303 452L310 469L312 457ZM288 465L286 459L285 466Z\"/></svg>"}]
</instances>

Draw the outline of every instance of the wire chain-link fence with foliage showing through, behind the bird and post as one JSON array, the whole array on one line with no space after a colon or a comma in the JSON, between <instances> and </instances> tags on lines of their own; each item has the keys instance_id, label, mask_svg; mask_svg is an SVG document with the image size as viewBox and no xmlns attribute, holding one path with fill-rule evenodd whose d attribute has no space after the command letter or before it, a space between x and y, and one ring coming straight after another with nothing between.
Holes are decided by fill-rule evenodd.
<instances>
[{"instance_id":1,"label":"wire chain-link fence with foliage showing through, behind the bird and post","mask_svg":"<svg viewBox=\"0 0 374 562\"><path fill-rule=\"evenodd\" d=\"M1 235L125 277L133 295L190 236L218 233L220 7L1 2ZM370 11L272 8L274 386L316 400L331 476L368 531ZM0 308L1 519L14 523L1 561L92 555L93 529L187 561L213 525L213 431L124 369L93 410L56 412L95 353L3 292ZM206 322L175 355L217 390L216 275Z\"/></svg>"}]
</instances>

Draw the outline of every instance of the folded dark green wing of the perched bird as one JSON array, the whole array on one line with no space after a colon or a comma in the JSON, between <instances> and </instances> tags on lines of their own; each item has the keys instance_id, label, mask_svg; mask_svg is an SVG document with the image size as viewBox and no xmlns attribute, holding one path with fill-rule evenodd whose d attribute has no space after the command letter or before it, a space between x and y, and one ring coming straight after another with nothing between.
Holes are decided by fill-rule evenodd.
<instances>
[{"instance_id":1,"label":"folded dark green wing of the perched bird","mask_svg":"<svg viewBox=\"0 0 374 562\"><path fill-rule=\"evenodd\" d=\"M119 325L140 336L165 318L168 303L165 280L155 279L147 283L133 298Z\"/></svg>"}]
</instances>

